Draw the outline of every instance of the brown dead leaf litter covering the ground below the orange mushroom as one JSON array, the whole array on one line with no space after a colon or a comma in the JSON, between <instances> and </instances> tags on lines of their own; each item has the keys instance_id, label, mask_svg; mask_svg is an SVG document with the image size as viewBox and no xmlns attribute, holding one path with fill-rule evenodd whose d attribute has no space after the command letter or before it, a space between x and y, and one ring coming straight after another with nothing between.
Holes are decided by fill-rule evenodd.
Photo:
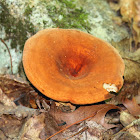
<instances>
[{"instance_id":1,"label":"brown dead leaf litter covering the ground below the orange mushroom","mask_svg":"<svg viewBox=\"0 0 140 140\"><path fill-rule=\"evenodd\" d=\"M104 103L82 106L66 104L72 108L70 111L63 109L63 106L59 106L58 102L48 100L41 94L38 94L27 82L17 80L17 78L13 78L10 75L0 76L0 88L0 124L3 124L1 125L1 133L4 134L1 135L3 139L4 136L39 140L77 138L114 139L120 135L119 131L122 131L130 124L130 128L133 127L131 131L138 138L137 135L139 132L136 128L134 129L133 125L139 124L139 105L134 99L123 100L123 107ZM24 95L24 99L26 99L24 101L20 101L22 94ZM36 100L40 101L40 108ZM63 105L65 106L65 104ZM45 109L45 106L48 109ZM120 121L119 118L116 123L109 123L107 121L106 116L110 116L109 112L112 111L113 114L114 112L120 112ZM124 111L127 111L127 114L131 115L132 119L128 121L127 117L123 114ZM122 116L125 116L124 119ZM113 116L111 118L113 119ZM14 122L12 119L14 119ZM19 120L21 123L19 123ZM126 123L126 121L129 123ZM17 129L10 133L10 125L4 122L11 122L13 128L16 127ZM7 130L4 129L5 125L7 126ZM118 135L116 135L117 128L119 129ZM38 130L38 133L36 130ZM130 134L132 134L131 131L129 132ZM33 135L33 133L36 133L36 135ZM116 134L113 135L114 133Z\"/></svg>"}]
</instances>

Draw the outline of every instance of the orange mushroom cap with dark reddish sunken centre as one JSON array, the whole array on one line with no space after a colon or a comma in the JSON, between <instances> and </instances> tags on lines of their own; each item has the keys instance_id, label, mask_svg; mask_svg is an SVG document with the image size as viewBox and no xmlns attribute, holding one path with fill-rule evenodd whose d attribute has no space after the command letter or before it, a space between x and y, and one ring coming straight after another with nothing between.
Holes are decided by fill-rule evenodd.
<instances>
[{"instance_id":1,"label":"orange mushroom cap with dark reddish sunken centre","mask_svg":"<svg viewBox=\"0 0 140 140\"><path fill-rule=\"evenodd\" d=\"M107 42L75 29L45 29L24 46L23 66L45 96L74 104L109 99L123 85L124 62Z\"/></svg>"}]
</instances>

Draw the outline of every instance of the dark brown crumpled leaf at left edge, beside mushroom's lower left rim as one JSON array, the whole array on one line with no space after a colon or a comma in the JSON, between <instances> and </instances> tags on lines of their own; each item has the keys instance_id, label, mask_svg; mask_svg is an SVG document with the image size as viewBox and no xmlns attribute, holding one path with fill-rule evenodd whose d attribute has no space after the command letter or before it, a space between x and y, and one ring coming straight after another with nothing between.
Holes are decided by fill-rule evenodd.
<instances>
[{"instance_id":1,"label":"dark brown crumpled leaf at left edge, beside mushroom's lower left rim","mask_svg":"<svg viewBox=\"0 0 140 140\"><path fill-rule=\"evenodd\" d=\"M21 78L13 75L1 75L0 88L12 101L18 100L25 106L29 105L28 94L33 91L33 88Z\"/></svg>"}]
</instances>

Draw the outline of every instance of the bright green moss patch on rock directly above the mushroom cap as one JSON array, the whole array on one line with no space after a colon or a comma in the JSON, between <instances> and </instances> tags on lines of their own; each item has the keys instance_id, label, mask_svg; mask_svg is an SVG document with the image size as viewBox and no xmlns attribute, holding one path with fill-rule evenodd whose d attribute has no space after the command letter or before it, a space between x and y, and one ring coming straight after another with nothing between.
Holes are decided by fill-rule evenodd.
<instances>
[{"instance_id":1,"label":"bright green moss patch on rock directly above the mushroom cap","mask_svg":"<svg viewBox=\"0 0 140 140\"><path fill-rule=\"evenodd\" d=\"M44 1L43 1L44 2ZM48 16L55 23L54 27L77 28L90 31L88 13L81 8L77 8L75 0L56 0L56 4L46 4Z\"/></svg>"}]
</instances>

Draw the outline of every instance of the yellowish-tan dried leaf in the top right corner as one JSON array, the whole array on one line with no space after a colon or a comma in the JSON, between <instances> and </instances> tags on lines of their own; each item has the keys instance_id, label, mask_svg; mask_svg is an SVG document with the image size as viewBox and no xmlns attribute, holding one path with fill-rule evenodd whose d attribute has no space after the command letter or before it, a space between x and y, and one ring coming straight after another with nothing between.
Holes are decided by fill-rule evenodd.
<instances>
[{"instance_id":1,"label":"yellowish-tan dried leaf in the top right corner","mask_svg":"<svg viewBox=\"0 0 140 140\"><path fill-rule=\"evenodd\" d=\"M122 15L122 20L127 22L132 29L131 41L135 42L135 49L139 48L140 43L140 0L119 0L109 1L112 9L118 11Z\"/></svg>"}]
</instances>

